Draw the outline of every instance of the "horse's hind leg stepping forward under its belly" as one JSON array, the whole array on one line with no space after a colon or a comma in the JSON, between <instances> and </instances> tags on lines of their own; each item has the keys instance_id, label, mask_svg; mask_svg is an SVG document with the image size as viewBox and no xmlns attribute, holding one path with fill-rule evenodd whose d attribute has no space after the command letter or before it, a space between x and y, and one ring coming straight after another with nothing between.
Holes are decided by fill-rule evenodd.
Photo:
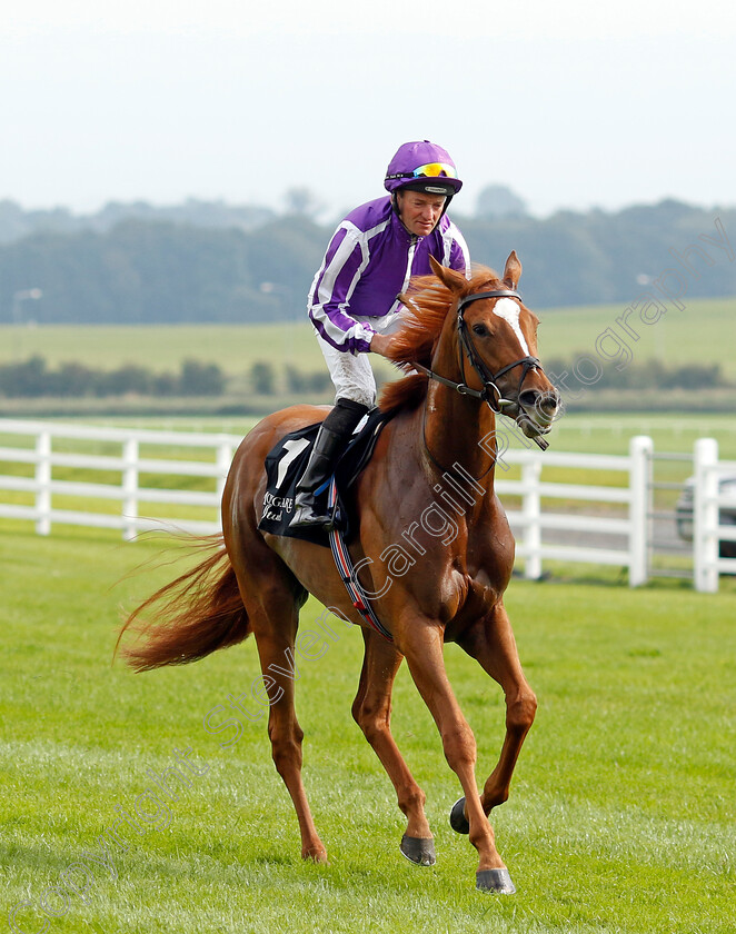
<instances>
[{"instance_id":1,"label":"horse's hind leg stepping forward under its belly","mask_svg":"<svg viewBox=\"0 0 736 934\"><path fill-rule=\"evenodd\" d=\"M435 843L425 814L425 793L417 785L391 735L391 688L404 656L371 629L362 630L365 656L352 716L396 788L407 817L401 852L412 863L430 866Z\"/></svg>"}]
</instances>

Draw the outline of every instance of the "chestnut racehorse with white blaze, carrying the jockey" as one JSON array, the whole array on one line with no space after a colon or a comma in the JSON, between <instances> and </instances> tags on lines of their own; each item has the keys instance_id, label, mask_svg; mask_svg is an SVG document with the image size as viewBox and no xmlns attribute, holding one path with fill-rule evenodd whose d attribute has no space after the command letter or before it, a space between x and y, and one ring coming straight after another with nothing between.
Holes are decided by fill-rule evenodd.
<instances>
[{"instance_id":1,"label":"chestnut racehorse with white blaze, carrying the jockey","mask_svg":"<svg viewBox=\"0 0 736 934\"><path fill-rule=\"evenodd\" d=\"M529 437L549 430L558 396L536 358L537 318L516 292L515 252L503 277L489 269L468 280L434 265L435 276L404 296L405 326L390 358L407 370L384 391L396 411L354 485L359 523L350 543L360 587L371 597L387 640L351 605L328 548L258 529L266 455L289 431L325 417L295 406L260 421L235 455L222 496L222 535L211 554L139 607L163 599L143 638L125 649L138 670L192 662L216 648L256 637L268 692L268 734L276 768L299 819L301 855L324 862L301 781L301 739L294 679L271 677L294 659L299 609L314 594L362 626L365 657L352 715L394 783L407 818L401 852L435 862L425 794L391 736L391 689L406 658L437 724L445 756L464 798L451 824L478 851L478 888L515 891L488 821L508 797L511 774L535 716L536 699L519 663L504 608L514 538L494 493L495 414L516 419ZM417 371L418 370L418 371ZM544 441L540 446L546 447ZM122 635L122 633L121 633ZM476 742L448 680L442 646L455 642L495 678L506 698L506 737L498 764L478 793Z\"/></svg>"}]
</instances>

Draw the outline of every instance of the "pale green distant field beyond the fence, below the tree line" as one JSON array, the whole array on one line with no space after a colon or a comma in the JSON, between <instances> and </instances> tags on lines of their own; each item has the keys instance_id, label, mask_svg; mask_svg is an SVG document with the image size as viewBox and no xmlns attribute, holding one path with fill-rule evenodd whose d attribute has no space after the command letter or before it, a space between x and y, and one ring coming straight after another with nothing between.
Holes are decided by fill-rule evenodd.
<instances>
[{"instance_id":1,"label":"pale green distant field beyond the fence, below the tree line","mask_svg":"<svg viewBox=\"0 0 736 934\"><path fill-rule=\"evenodd\" d=\"M655 325L641 324L636 312L629 318L631 326L638 320L635 330L639 340L630 339L634 360L643 362L656 357L668 366L694 360L720 364L725 374L736 377L736 358L732 352L736 338L736 298L686 298L683 310L668 306L667 314ZM616 319L625 308L621 304L541 311L543 360L553 357L569 360L579 355L595 357L598 335L607 328L624 334ZM27 359L32 354L40 354L51 365L79 360L113 369L121 364L138 362L156 370L173 370L183 359L196 357L217 361L231 375L243 372L256 360L270 360L277 368L286 362L305 371L321 370L325 366L306 314L304 319L289 325L248 327L0 327L0 362ZM392 372L389 367L385 371Z\"/></svg>"}]
</instances>

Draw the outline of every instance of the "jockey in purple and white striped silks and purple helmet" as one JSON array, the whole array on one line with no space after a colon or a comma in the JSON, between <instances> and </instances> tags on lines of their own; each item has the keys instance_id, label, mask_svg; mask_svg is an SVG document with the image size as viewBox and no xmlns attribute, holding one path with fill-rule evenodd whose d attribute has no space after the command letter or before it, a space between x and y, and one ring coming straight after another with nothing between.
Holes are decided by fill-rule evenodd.
<instances>
[{"instance_id":1,"label":"jockey in purple and white striped silks and purple helmet","mask_svg":"<svg viewBox=\"0 0 736 934\"><path fill-rule=\"evenodd\" d=\"M428 140L405 142L386 171L389 195L351 211L327 247L308 310L336 399L297 485L292 526L329 525L315 491L331 477L354 428L376 404L367 355L384 355L388 335L400 327L398 295L411 276L431 272L430 256L470 275L468 248L446 216L461 186L445 149Z\"/></svg>"}]
</instances>

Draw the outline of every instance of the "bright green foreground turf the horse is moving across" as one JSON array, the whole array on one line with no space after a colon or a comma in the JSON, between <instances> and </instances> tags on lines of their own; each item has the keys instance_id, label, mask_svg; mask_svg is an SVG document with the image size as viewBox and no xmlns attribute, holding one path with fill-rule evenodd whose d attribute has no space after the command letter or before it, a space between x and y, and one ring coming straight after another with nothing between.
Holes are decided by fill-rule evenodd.
<instances>
[{"instance_id":1,"label":"bright green foreground turf the horse is moving across","mask_svg":"<svg viewBox=\"0 0 736 934\"><path fill-rule=\"evenodd\" d=\"M732 934L733 582L718 596L630 592L606 577L511 584L540 707L494 817L518 886L498 898L475 891L475 852L448 826L457 781L406 672L394 731L427 792L438 863L420 870L399 854L392 788L349 715L357 632L300 667L306 784L330 864L301 862L262 723L227 748L202 728L256 677L252 640L181 669L110 666L119 607L176 567L130 572L161 556L156 540L0 527L2 911L30 903L20 931L46 931L46 906L49 934ZM319 609L310 602L302 622ZM447 664L485 776L503 735L500 692L454 646ZM145 798L145 831L122 824L127 851L112 847L107 866L88 856L86 875L84 853L135 813L155 787L147 769L172 766L175 747L191 748L201 774L166 811Z\"/></svg>"}]
</instances>

